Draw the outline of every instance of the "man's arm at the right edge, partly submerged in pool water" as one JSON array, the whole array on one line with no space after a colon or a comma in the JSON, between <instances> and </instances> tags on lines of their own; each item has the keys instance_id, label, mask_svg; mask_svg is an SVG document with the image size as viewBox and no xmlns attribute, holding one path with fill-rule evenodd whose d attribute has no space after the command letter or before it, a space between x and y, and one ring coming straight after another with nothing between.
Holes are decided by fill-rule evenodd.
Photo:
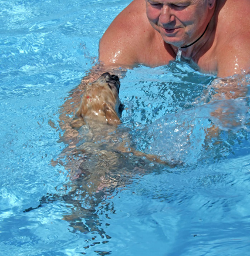
<instances>
[{"instance_id":1,"label":"man's arm at the right edge, partly submerged in pool water","mask_svg":"<svg viewBox=\"0 0 250 256\"><path fill-rule=\"evenodd\" d=\"M249 2L247 4L249 5ZM228 9L232 9L232 6ZM250 24L248 24L248 17L239 17L240 22L234 23L235 13L230 12L228 16L234 20L229 19L227 23L224 22L224 30L221 27L218 28L221 32L217 38L216 50L218 79L211 85L214 95L210 102L217 105L217 109L211 113L211 116L215 117L223 127L235 129L242 125L239 116L248 111L245 97L248 95L249 86L250 35L248 31ZM227 33L228 31L231 33Z\"/></svg>"}]
</instances>

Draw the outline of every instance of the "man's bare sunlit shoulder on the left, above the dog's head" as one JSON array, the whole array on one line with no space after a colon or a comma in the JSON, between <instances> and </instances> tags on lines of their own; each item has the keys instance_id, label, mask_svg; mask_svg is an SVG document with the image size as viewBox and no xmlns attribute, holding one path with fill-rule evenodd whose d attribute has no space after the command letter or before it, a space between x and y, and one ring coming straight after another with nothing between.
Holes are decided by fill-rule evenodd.
<instances>
[{"instance_id":1,"label":"man's bare sunlit shoulder on the left, above the dog's head","mask_svg":"<svg viewBox=\"0 0 250 256\"><path fill-rule=\"evenodd\" d=\"M99 58L103 62L110 62L110 56L116 55L115 62L133 65L137 62L138 51L145 43L150 46L148 38L155 33L146 16L145 0L134 0L104 33L100 40Z\"/></svg>"}]
</instances>

